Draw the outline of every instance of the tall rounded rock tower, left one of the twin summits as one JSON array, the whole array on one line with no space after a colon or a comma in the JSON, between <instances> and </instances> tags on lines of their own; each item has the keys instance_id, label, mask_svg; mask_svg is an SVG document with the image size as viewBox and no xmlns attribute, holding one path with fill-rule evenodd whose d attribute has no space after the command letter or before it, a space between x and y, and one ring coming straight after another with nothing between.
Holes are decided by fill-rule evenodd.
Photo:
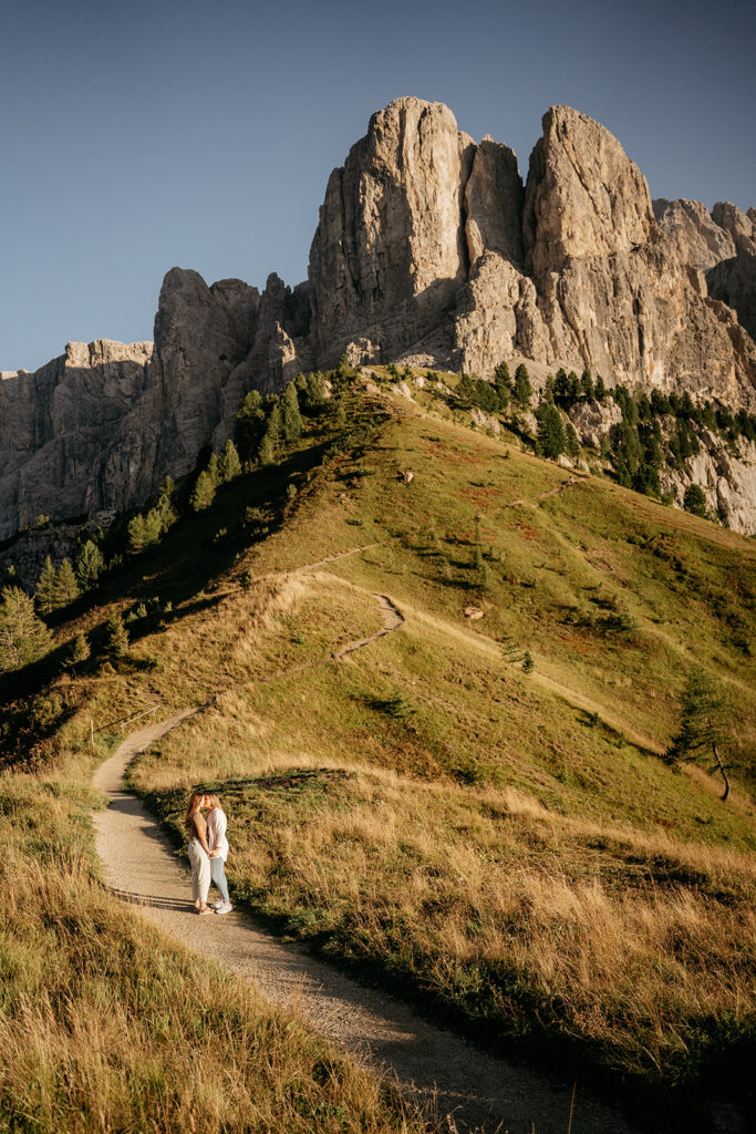
<instances>
[{"instance_id":1,"label":"tall rounded rock tower, left one of the twin summits","mask_svg":"<svg viewBox=\"0 0 756 1134\"><path fill-rule=\"evenodd\" d=\"M375 350L396 356L453 306L468 270L461 219L474 150L447 107L398 99L333 170L309 254L321 365L354 339L365 362Z\"/></svg>"}]
</instances>

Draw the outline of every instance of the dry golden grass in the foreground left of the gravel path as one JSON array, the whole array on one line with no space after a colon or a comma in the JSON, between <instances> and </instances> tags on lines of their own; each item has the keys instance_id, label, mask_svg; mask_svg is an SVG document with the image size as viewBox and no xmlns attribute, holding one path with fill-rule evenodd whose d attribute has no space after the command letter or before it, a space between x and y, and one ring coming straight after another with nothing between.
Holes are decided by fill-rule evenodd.
<instances>
[{"instance_id":1,"label":"dry golden grass in the foreground left of the gravel path","mask_svg":"<svg viewBox=\"0 0 756 1134\"><path fill-rule=\"evenodd\" d=\"M0 1131L419 1134L296 1017L110 897L88 771L0 776Z\"/></svg>"}]
</instances>

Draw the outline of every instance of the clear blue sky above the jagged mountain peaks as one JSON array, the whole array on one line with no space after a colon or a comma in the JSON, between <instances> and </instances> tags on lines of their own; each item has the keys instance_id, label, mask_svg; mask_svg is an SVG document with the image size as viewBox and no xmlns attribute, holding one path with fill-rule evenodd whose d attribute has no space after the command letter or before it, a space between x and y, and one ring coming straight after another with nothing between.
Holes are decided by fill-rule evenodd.
<instances>
[{"instance_id":1,"label":"clear blue sky above the jagged mountain peaks","mask_svg":"<svg viewBox=\"0 0 756 1134\"><path fill-rule=\"evenodd\" d=\"M517 151L562 102L653 196L756 205L756 8L0 0L0 369L151 338L179 264L304 279L331 169L402 94Z\"/></svg>"}]
</instances>

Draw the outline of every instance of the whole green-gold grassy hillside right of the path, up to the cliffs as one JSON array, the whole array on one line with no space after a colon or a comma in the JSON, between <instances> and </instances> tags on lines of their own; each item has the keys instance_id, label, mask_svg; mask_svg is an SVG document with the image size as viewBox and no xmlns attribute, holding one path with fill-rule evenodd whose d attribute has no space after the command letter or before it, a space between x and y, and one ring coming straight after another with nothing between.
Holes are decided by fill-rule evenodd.
<instances>
[{"instance_id":1,"label":"whole green-gold grassy hillside right of the path, up to the cliffs","mask_svg":"<svg viewBox=\"0 0 756 1134\"><path fill-rule=\"evenodd\" d=\"M23 723L60 760L90 717L104 745L216 697L131 780L177 837L186 792L220 790L237 899L478 1035L705 1089L754 1041L756 549L419 397L352 383L70 608L61 650L84 629L93 660ZM334 660L376 595L402 625ZM694 662L737 708L727 804L705 760L661 759Z\"/></svg>"}]
</instances>

